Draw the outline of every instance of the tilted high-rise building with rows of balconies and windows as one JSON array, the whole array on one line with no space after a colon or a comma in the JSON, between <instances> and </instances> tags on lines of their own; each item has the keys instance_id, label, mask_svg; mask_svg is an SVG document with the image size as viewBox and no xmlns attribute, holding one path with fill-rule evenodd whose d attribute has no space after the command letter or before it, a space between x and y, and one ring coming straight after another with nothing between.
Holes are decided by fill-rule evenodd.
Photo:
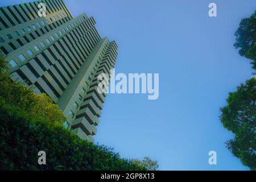
<instances>
[{"instance_id":1,"label":"tilted high-rise building with rows of balconies and windows","mask_svg":"<svg viewBox=\"0 0 256 182\"><path fill-rule=\"evenodd\" d=\"M63 0L0 7L0 48L12 79L46 93L67 117L64 127L90 141L106 96L97 92L97 76L109 75L117 59L117 44L95 24L86 14L73 18Z\"/></svg>"}]
</instances>

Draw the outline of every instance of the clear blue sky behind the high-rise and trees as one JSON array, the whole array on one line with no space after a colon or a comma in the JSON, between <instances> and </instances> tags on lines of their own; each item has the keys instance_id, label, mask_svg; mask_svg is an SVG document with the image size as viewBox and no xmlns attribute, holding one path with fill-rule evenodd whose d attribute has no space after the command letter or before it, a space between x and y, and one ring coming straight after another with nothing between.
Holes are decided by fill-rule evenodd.
<instances>
[{"instance_id":1,"label":"clear blue sky behind the high-rise and trees","mask_svg":"<svg viewBox=\"0 0 256 182\"><path fill-rule=\"evenodd\" d=\"M20 2L29 1L0 5ZM158 100L108 94L96 142L125 158L150 156L163 170L248 169L226 149L233 136L218 116L228 92L253 73L233 43L255 0L65 2L74 16L94 16L101 36L117 42L117 73L159 73ZM208 16L210 2L217 4L216 18ZM208 164L211 150L217 152L216 166Z\"/></svg>"}]
</instances>

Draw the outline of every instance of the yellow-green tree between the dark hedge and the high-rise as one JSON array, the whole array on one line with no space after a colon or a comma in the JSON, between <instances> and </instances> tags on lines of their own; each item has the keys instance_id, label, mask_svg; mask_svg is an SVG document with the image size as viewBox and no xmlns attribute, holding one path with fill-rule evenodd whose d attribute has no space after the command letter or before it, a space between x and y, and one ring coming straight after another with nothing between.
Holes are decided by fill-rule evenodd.
<instances>
[{"instance_id":1,"label":"yellow-green tree between the dark hedge and the high-rise","mask_svg":"<svg viewBox=\"0 0 256 182\"><path fill-rule=\"evenodd\" d=\"M35 114L35 117L44 117L48 122L63 124L65 117L59 106L45 93L36 94L24 82L13 81L7 72L5 57L0 57L0 99L14 106Z\"/></svg>"}]
</instances>

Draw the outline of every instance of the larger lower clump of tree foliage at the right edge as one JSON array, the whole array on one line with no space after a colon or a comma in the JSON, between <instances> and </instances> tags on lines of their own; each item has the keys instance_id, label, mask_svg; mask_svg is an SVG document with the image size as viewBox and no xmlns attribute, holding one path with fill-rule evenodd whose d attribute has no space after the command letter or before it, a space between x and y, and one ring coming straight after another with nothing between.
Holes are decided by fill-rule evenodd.
<instances>
[{"instance_id":1,"label":"larger lower clump of tree foliage at the right edge","mask_svg":"<svg viewBox=\"0 0 256 182\"><path fill-rule=\"evenodd\" d=\"M256 78L229 93L228 105L222 107L221 122L234 133L234 139L226 144L245 166L256 170Z\"/></svg>"}]
</instances>

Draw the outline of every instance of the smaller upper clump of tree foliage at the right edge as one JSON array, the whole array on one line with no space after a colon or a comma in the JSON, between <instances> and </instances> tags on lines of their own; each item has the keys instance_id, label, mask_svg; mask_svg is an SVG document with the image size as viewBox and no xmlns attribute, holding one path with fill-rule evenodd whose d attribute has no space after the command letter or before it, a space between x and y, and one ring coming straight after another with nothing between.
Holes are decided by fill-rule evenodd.
<instances>
[{"instance_id":1,"label":"smaller upper clump of tree foliage at the right edge","mask_svg":"<svg viewBox=\"0 0 256 182\"><path fill-rule=\"evenodd\" d=\"M256 69L256 11L250 18L243 18L236 33L234 47L239 49L241 56L251 59L253 68Z\"/></svg>"}]
</instances>

